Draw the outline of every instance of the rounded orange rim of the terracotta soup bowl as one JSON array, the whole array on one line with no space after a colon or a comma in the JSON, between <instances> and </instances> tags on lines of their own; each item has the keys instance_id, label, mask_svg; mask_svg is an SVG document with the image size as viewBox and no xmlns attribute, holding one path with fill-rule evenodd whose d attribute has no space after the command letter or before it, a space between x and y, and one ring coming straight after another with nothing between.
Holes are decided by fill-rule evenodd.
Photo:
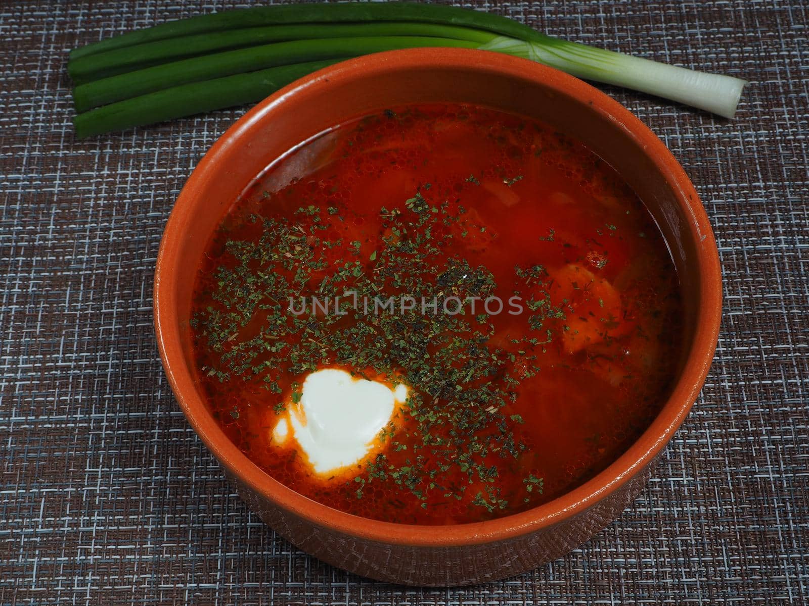
<instances>
[{"instance_id":1,"label":"rounded orange rim of the terracotta soup bowl","mask_svg":"<svg viewBox=\"0 0 809 606\"><path fill-rule=\"evenodd\" d=\"M182 246L184 227L196 211L198 184L221 170L220 166L227 166L229 158L230 161L235 159L244 133L257 128L268 116L294 103L296 98L328 90L330 82L337 80L351 81L404 69L462 69L505 75L535 84L539 82L558 95L590 103L604 120L621 124L625 132L642 145L666 178L684 213L693 217L693 221L688 221L688 228L697 250L695 267L700 288L695 335L680 377L659 415L621 457L581 486L538 507L484 522L441 526L371 520L338 511L294 492L253 464L227 438L197 393L193 372L184 364L172 279L172 272L181 269L172 259ZM578 78L532 61L466 48L413 48L350 59L292 82L258 103L218 138L193 170L167 221L155 267L155 331L163 368L188 423L227 472L256 494L311 524L355 539L417 547L480 545L536 532L589 509L642 472L683 423L705 382L714 357L721 313L722 281L713 231L697 191L663 142L628 109Z\"/></svg>"}]
</instances>

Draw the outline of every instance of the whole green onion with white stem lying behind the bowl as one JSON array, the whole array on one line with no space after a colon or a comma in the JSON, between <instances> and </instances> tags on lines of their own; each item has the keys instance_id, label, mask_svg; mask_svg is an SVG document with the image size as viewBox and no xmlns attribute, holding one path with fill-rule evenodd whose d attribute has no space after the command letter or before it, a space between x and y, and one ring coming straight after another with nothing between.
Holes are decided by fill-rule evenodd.
<instances>
[{"instance_id":1,"label":"whole green onion with white stem lying behind the bowl","mask_svg":"<svg viewBox=\"0 0 809 606\"><path fill-rule=\"evenodd\" d=\"M397 48L478 48L732 118L747 82L559 40L498 15L410 2L257 6L70 53L79 138L256 103L326 65Z\"/></svg>"}]
</instances>

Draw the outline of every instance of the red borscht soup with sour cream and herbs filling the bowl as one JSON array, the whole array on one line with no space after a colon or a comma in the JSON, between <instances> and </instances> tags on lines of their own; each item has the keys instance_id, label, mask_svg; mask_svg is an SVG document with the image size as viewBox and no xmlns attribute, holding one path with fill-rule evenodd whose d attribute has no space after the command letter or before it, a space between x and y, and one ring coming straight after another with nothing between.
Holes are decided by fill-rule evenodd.
<instances>
[{"instance_id":1,"label":"red borscht soup with sour cream and herbs filling the bowl","mask_svg":"<svg viewBox=\"0 0 809 606\"><path fill-rule=\"evenodd\" d=\"M461 524L625 452L680 359L659 229L584 145L483 107L393 107L273 163L198 269L201 389L291 489Z\"/></svg>"}]
</instances>

